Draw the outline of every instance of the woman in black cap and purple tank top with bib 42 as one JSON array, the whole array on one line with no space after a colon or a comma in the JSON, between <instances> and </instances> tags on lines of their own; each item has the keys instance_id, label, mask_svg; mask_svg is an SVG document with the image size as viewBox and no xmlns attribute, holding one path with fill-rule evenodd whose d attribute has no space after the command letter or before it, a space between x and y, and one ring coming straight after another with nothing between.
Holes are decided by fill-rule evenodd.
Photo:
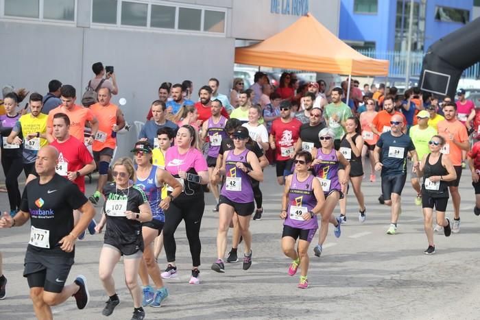
<instances>
[{"instance_id":1,"label":"woman in black cap and purple tank top with bib 42","mask_svg":"<svg viewBox=\"0 0 480 320\"><path fill-rule=\"evenodd\" d=\"M239 127L233 134L235 149L226 151L221 168L215 168L213 171L214 175L226 176L219 201L218 259L212 264L213 271L217 272L225 272L224 256L227 247L228 227L232 223L235 213L237 213L241 236L245 241L243 270L248 270L252 265L252 234L249 227L255 206L250 177L256 181L262 181L263 172L259 159L245 147L248 138L248 130L245 127Z\"/></svg>"}]
</instances>

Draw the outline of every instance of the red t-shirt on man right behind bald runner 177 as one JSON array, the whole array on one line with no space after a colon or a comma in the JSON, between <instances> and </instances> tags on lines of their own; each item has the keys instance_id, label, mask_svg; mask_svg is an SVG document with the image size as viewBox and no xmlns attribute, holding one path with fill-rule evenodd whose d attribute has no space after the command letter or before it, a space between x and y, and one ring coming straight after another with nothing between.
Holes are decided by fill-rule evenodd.
<instances>
[{"instance_id":1,"label":"red t-shirt on man right behind bald runner 177","mask_svg":"<svg viewBox=\"0 0 480 320\"><path fill-rule=\"evenodd\" d=\"M50 145L55 147L58 153L60 153L60 156L58 156L58 164L61 165L62 162L67 162L67 172L78 171L82 169L85 164L93 161L93 157L90 152L88 152L88 149L86 149L84 143L80 142L80 140L74 136L70 136L70 138L63 143L54 140ZM57 173L62 175L60 172L61 171L57 170ZM83 175L73 180L73 183L78 186L82 193L85 193L85 177Z\"/></svg>"}]
</instances>

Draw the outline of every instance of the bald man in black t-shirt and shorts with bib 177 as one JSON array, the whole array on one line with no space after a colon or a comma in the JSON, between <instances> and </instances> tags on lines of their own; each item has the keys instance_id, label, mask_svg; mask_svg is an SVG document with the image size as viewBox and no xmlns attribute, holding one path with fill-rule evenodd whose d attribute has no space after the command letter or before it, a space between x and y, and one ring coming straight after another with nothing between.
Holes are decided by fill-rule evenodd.
<instances>
[{"instance_id":1,"label":"bald man in black t-shirt and shorts with bib 177","mask_svg":"<svg viewBox=\"0 0 480 320\"><path fill-rule=\"evenodd\" d=\"M78 187L58 175L58 151L45 146L35 161L38 179L23 190L20 211L15 217L3 212L0 228L21 226L30 219L30 241L25 254L23 276L38 319L53 319L51 306L75 297L77 308L88 304L88 288L83 275L65 286L75 257L75 240L95 214L92 204ZM73 210L82 218L73 225Z\"/></svg>"}]
</instances>

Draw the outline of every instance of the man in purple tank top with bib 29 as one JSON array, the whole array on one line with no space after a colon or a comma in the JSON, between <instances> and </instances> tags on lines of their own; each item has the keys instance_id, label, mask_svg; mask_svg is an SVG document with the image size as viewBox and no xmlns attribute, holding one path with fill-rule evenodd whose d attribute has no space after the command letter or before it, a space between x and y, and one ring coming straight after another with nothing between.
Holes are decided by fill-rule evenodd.
<instances>
[{"instance_id":1,"label":"man in purple tank top with bib 29","mask_svg":"<svg viewBox=\"0 0 480 320\"><path fill-rule=\"evenodd\" d=\"M218 184L215 179L212 179L213 169L217 165L218 151L221 146L221 141L226 138L225 124L227 122L226 117L220 114L222 105L221 101L215 99L211 102L212 116L204 121L202 125L202 140L206 143L208 136L208 151L206 152L206 164L208 165L208 176L210 177L210 190L212 190L213 197L215 197L214 212L218 212L220 193L218 190Z\"/></svg>"}]
</instances>

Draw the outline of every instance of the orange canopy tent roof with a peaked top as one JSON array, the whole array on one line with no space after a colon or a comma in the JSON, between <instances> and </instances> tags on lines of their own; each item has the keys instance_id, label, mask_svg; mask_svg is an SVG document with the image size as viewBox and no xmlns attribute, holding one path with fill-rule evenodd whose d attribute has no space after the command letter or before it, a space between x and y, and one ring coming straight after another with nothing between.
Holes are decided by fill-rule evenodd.
<instances>
[{"instance_id":1,"label":"orange canopy tent roof with a peaked top","mask_svg":"<svg viewBox=\"0 0 480 320\"><path fill-rule=\"evenodd\" d=\"M363 56L311 14L256 45L238 47L235 62L340 75L388 75L388 60Z\"/></svg>"}]
</instances>

